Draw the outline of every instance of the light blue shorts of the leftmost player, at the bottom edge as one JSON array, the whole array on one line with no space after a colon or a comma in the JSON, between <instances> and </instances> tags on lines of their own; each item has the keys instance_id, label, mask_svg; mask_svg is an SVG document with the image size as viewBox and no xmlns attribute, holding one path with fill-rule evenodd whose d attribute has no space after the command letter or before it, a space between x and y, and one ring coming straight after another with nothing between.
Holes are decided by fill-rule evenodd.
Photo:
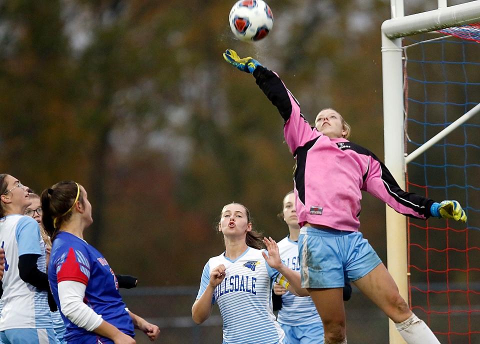
<instances>
[{"instance_id":1,"label":"light blue shorts of the leftmost player, at the bottom edge","mask_svg":"<svg viewBox=\"0 0 480 344\"><path fill-rule=\"evenodd\" d=\"M3 344L57 344L53 328L11 328L0 331Z\"/></svg>"}]
</instances>

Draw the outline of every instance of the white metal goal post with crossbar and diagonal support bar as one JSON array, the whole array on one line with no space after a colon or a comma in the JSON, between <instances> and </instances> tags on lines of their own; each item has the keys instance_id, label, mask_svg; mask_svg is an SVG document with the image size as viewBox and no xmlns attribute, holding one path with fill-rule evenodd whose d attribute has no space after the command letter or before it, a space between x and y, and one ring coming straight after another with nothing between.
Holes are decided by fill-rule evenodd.
<instances>
[{"instance_id":1,"label":"white metal goal post with crossbar and diagonal support bar","mask_svg":"<svg viewBox=\"0 0 480 344\"><path fill-rule=\"evenodd\" d=\"M405 164L421 154L427 146L419 147L410 156L406 156L404 151L402 37L478 22L480 0L453 6L447 6L446 0L438 0L437 9L407 16L404 15L403 0L390 0L390 7L391 19L385 20L381 25L385 164L400 187L405 189ZM475 106L428 144L431 146L443 137L441 135L447 134L478 112L480 107ZM388 270L397 283L401 296L408 301L406 218L388 206L385 208ZM391 320L389 342L405 343Z\"/></svg>"}]
</instances>

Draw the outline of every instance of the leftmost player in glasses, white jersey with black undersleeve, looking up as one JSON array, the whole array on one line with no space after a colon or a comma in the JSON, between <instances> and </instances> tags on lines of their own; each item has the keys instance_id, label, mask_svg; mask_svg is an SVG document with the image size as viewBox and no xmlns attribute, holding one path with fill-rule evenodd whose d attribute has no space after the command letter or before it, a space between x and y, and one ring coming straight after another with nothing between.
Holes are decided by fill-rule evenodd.
<instances>
[{"instance_id":1,"label":"leftmost player in glasses, white jersey with black undersleeve, looking up","mask_svg":"<svg viewBox=\"0 0 480 344\"><path fill-rule=\"evenodd\" d=\"M48 306L45 244L36 221L23 215L30 203L26 186L9 174L0 174L0 244L5 250L0 338L4 344L56 343Z\"/></svg>"}]
</instances>

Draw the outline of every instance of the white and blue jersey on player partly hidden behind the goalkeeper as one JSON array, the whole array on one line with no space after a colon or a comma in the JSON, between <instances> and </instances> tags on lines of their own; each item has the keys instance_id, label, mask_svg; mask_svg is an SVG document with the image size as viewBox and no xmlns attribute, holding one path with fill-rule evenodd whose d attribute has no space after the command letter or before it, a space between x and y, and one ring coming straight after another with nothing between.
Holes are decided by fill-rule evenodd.
<instances>
[{"instance_id":1,"label":"white and blue jersey on player partly hidden behind the goalkeeper","mask_svg":"<svg viewBox=\"0 0 480 344\"><path fill-rule=\"evenodd\" d=\"M278 242L278 250L283 263L294 271L300 271L298 261L298 242L287 237ZM320 322L321 319L316 311L315 304L310 296L296 296L287 291L281 295L281 309L278 311L278 322L299 326Z\"/></svg>"}]
</instances>

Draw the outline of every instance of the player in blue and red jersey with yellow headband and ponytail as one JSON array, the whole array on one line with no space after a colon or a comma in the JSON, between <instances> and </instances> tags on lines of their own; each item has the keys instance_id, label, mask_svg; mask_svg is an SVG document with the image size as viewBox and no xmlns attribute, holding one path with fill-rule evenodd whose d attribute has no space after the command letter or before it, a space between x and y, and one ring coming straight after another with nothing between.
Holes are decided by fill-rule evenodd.
<instances>
[{"instance_id":1,"label":"player in blue and red jersey with yellow headband and ponytail","mask_svg":"<svg viewBox=\"0 0 480 344\"><path fill-rule=\"evenodd\" d=\"M93 222L83 186L60 181L41 193L42 223L52 240L48 280L68 344L133 344L136 327L154 340L159 329L126 309L103 255L83 240Z\"/></svg>"}]
</instances>

